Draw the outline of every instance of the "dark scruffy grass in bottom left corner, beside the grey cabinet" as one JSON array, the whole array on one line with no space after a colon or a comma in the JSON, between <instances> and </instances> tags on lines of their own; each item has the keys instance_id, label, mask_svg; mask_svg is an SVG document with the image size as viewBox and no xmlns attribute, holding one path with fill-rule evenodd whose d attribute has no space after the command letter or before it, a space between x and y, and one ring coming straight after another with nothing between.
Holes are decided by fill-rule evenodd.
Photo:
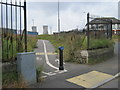
<instances>
[{"instance_id":1,"label":"dark scruffy grass in bottom left corner, beside the grey cabinet","mask_svg":"<svg viewBox=\"0 0 120 90\"><path fill-rule=\"evenodd\" d=\"M7 72L2 73L2 88L27 88L27 83L22 77L18 78L18 73Z\"/></svg>"}]
</instances>

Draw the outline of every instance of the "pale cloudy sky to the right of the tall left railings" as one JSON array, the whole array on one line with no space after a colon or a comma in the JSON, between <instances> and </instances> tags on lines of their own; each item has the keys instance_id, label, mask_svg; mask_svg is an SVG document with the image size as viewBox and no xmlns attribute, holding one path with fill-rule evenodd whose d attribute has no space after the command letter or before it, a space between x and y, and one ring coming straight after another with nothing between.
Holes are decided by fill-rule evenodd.
<instances>
[{"instance_id":1,"label":"pale cloudy sky to the right of the tall left railings","mask_svg":"<svg viewBox=\"0 0 120 90\"><path fill-rule=\"evenodd\" d=\"M60 30L69 31L75 28L83 29L86 15L118 18L117 2L60 2ZM28 29L37 26L39 34L43 33L43 25L48 25L49 33L57 32L58 2L29 2ZM51 30L50 30L51 27Z\"/></svg>"}]
</instances>

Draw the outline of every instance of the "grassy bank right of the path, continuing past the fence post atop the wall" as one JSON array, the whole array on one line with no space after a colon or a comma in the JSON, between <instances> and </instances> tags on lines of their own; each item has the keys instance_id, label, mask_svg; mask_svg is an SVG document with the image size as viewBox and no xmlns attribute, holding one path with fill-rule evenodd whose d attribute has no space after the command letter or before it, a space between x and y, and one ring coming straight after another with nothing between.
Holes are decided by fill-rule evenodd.
<instances>
[{"instance_id":1,"label":"grassy bank right of the path, continuing past the fence post atop the wall","mask_svg":"<svg viewBox=\"0 0 120 90\"><path fill-rule=\"evenodd\" d=\"M83 34L39 35L38 38L49 40L55 46L56 52L58 47L64 46L64 60L68 62L76 62L74 56L77 50L87 49L87 37ZM113 44L113 40L105 38L90 39L90 49L111 47Z\"/></svg>"}]
</instances>

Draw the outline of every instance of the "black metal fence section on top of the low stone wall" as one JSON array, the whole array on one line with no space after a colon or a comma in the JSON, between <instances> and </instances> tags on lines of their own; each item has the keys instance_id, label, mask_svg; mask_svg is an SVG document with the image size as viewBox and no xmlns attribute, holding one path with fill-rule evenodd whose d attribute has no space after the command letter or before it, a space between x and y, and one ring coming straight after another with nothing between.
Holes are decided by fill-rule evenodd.
<instances>
[{"instance_id":1,"label":"black metal fence section on top of the low stone wall","mask_svg":"<svg viewBox=\"0 0 120 90\"><path fill-rule=\"evenodd\" d=\"M112 39L112 20L109 18L90 15L87 13L87 49L90 48L92 39Z\"/></svg>"}]
</instances>

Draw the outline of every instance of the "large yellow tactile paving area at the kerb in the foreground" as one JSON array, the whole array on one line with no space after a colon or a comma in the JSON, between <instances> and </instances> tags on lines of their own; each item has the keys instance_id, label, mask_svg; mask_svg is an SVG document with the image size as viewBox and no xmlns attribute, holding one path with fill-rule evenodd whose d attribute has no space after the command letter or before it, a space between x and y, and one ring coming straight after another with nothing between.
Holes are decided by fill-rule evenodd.
<instances>
[{"instance_id":1,"label":"large yellow tactile paving area at the kerb in the foreground","mask_svg":"<svg viewBox=\"0 0 120 90\"><path fill-rule=\"evenodd\" d=\"M83 86L85 88L92 88L95 85L98 85L99 83L110 79L111 77L113 76L106 73L91 71L80 76L67 79L67 81Z\"/></svg>"}]
</instances>

